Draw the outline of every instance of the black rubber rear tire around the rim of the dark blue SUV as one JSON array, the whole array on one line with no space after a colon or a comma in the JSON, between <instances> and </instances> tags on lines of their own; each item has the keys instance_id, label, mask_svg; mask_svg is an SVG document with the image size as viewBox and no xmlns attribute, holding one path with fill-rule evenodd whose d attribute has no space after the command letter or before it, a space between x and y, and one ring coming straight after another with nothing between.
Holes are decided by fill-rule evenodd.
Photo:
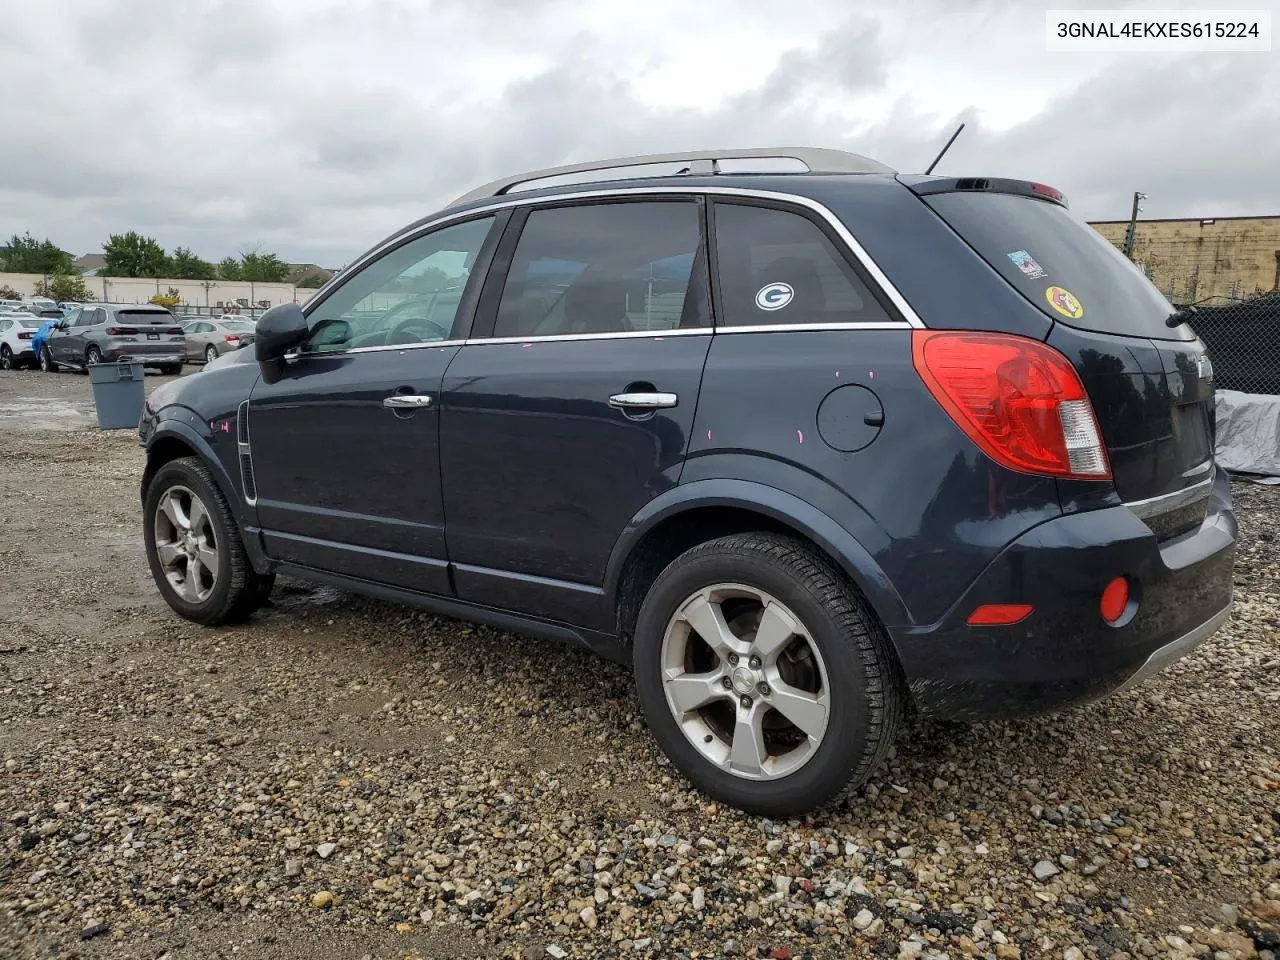
<instances>
[{"instance_id":1,"label":"black rubber rear tire around the rim of the dark blue SUV","mask_svg":"<svg viewBox=\"0 0 1280 960\"><path fill-rule=\"evenodd\" d=\"M831 714L823 742L804 767L782 780L749 781L718 769L689 742L667 705L660 667L667 625L678 604L718 582L756 588L788 607L809 631L827 668ZM801 577L762 556L704 552L672 563L641 607L634 668L649 727L676 767L703 792L749 813L790 815L826 803L845 788L864 754L874 749L865 666L856 643L845 636L842 625Z\"/></svg>"}]
</instances>

